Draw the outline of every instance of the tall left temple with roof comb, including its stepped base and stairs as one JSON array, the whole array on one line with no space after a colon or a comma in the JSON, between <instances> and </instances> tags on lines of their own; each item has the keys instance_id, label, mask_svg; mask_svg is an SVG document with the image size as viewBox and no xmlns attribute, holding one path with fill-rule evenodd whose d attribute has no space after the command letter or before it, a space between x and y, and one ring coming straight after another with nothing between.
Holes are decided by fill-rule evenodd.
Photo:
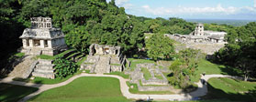
<instances>
[{"instance_id":1,"label":"tall left temple with roof comb, including its stepped base and stairs","mask_svg":"<svg viewBox=\"0 0 256 102\"><path fill-rule=\"evenodd\" d=\"M23 46L20 52L25 53L9 76L28 78L40 76L55 78L53 61L34 59L33 56L54 56L67 48L64 35L60 28L54 28L50 17L32 17L31 27L26 28L19 38Z\"/></svg>"}]
</instances>

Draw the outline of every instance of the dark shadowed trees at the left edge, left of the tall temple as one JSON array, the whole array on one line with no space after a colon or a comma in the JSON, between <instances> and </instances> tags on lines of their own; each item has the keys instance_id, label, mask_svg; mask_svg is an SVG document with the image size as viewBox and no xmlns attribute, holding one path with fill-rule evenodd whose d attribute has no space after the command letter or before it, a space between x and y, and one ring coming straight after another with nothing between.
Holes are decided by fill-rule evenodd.
<instances>
[{"instance_id":1,"label":"dark shadowed trees at the left edge, left of the tall temple","mask_svg":"<svg viewBox=\"0 0 256 102\"><path fill-rule=\"evenodd\" d=\"M6 59L21 46L21 40L18 40L18 36L22 34L25 27L17 22L20 8L21 5L17 0L0 0L0 46L2 46L0 68L6 65Z\"/></svg>"}]
</instances>

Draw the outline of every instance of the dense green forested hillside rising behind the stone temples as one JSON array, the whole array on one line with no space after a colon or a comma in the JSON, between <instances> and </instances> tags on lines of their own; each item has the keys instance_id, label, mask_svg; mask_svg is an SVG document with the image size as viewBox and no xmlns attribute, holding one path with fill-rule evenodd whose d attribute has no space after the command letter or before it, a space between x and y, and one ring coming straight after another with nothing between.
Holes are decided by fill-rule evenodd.
<instances>
[{"instance_id":1,"label":"dense green forested hillside rising behind the stone temples","mask_svg":"<svg viewBox=\"0 0 256 102\"><path fill-rule=\"evenodd\" d=\"M180 18L152 19L127 15L125 8L117 7L115 0L0 0L0 66L21 46L23 30L30 26L30 17L52 18L52 24L66 35L68 46L88 53L88 47L97 43L122 46L125 55L138 53L145 46L144 33L188 35L195 23ZM230 34L236 26L206 24L206 30Z\"/></svg>"}]
</instances>

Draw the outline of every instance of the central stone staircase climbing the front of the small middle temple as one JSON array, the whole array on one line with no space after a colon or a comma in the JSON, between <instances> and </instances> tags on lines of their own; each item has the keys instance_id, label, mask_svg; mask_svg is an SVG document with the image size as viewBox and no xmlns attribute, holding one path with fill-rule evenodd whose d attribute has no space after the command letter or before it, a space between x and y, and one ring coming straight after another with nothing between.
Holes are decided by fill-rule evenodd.
<instances>
[{"instance_id":1,"label":"central stone staircase climbing the front of the small middle temple","mask_svg":"<svg viewBox=\"0 0 256 102\"><path fill-rule=\"evenodd\" d=\"M95 66L95 73L103 74L103 73L110 73L110 57L108 56L100 56L99 61Z\"/></svg>"}]
</instances>

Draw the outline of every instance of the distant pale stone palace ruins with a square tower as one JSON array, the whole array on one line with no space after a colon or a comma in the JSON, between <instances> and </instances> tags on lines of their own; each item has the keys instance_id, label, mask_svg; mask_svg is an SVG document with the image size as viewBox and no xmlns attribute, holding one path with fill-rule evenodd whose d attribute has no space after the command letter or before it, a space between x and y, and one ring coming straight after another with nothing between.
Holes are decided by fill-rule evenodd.
<instances>
[{"instance_id":1,"label":"distant pale stone palace ruins with a square tower","mask_svg":"<svg viewBox=\"0 0 256 102\"><path fill-rule=\"evenodd\" d=\"M200 49L207 55L213 55L216 51L227 44L227 41L225 41L224 38L226 35L226 32L205 31L204 25L198 24L195 27L195 31L190 35L165 34L164 36L168 36L175 41L181 42L185 45L184 48ZM178 51L179 50L176 48L176 52Z\"/></svg>"}]
</instances>

